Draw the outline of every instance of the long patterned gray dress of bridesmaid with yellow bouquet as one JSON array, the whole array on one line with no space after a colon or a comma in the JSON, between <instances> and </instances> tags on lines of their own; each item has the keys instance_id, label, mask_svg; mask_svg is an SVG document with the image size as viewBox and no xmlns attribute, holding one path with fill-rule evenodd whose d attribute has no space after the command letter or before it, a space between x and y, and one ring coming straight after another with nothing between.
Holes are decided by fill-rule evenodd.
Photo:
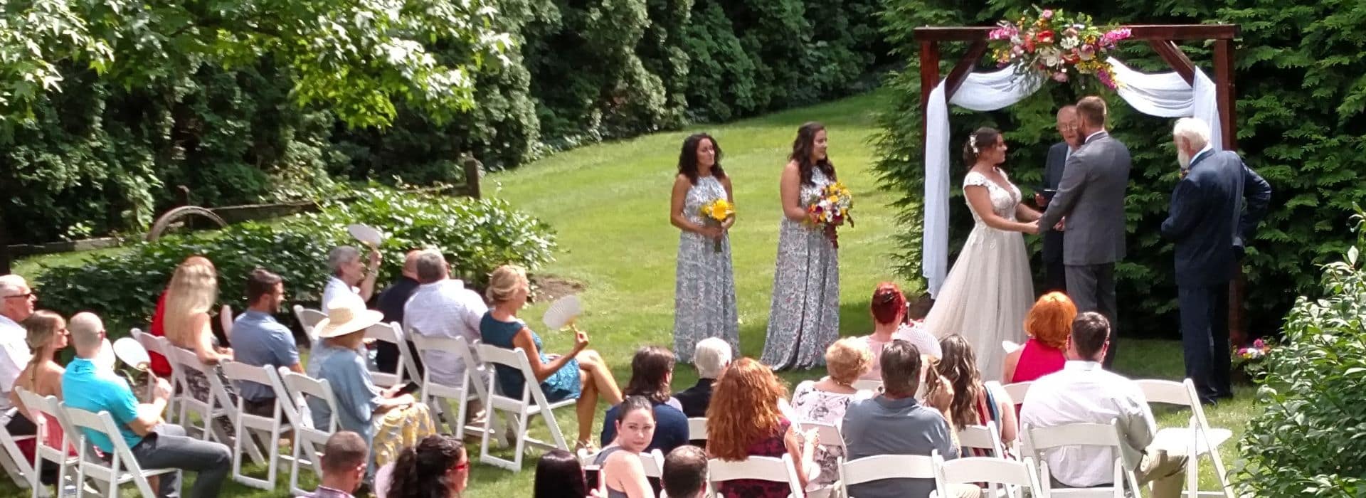
<instances>
[{"instance_id":1,"label":"long patterned gray dress of bridesmaid with yellow bouquet","mask_svg":"<svg viewBox=\"0 0 1366 498\"><path fill-rule=\"evenodd\" d=\"M697 179L683 199L683 214L702 224L702 206L725 199L725 187L713 176ZM673 287L673 356L693 363L693 349L708 337L720 337L739 353L740 334L735 314L735 274L731 269L731 237L721 237L721 252L712 239L693 232L679 235Z\"/></svg>"}]
</instances>

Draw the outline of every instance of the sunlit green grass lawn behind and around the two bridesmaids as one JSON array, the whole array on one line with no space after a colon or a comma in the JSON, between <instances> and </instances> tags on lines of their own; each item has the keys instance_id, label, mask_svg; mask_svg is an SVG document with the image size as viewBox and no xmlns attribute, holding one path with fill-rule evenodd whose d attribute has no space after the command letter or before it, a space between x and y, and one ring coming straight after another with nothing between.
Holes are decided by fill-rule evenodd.
<instances>
[{"instance_id":1,"label":"sunlit green grass lawn behind and around the two bridesmaids","mask_svg":"<svg viewBox=\"0 0 1366 498\"><path fill-rule=\"evenodd\" d=\"M628 375L631 352L641 345L672 345L673 261L678 229L669 225L669 188L679 146L684 136L708 131L717 138L723 165L735 184L739 221L731 232L736 295L740 317L740 348L758 356L764 347L773 259L777 252L779 172L785 164L796 127L821 120L829 128L831 158L840 179L854 191L856 228L840 235L841 333L872 330L867 311L874 285L896 280L891 254L897 232L892 195L877 188L870 165L874 160L869 138L877 131L873 113L885 104L885 94L867 94L831 104L780 112L725 126L694 126L686 131L663 132L631 141L594 145L552 156L512 172L485 177L486 195L508 199L549 222L557 232L557 259L541 270L583 285L586 315L581 326L590 332L591 348L613 366L620 383ZM68 258L70 261L70 258ZM19 269L30 269L25 262ZM902 281L903 287L910 284ZM914 289L908 289L914 291ZM538 323L545 303L523 312ZM546 351L566 351L567 334L545 333ZM1130 340L1119 357L1119 370L1131 377L1179 378L1180 344L1176 341ZM822 372L784 372L788 382L820 377ZM691 367L680 367L673 385L693 385ZM1251 389L1240 389L1232 402L1210 409L1212 424L1242 434L1251 415ZM604 407L605 408L605 407ZM598 412L601 418L601 411ZM556 412L566 435L572 439L575 416L571 408ZM600 420L601 422L601 420ZM1183 412L1162 412L1162 426L1186 423ZM540 422L533 433L546 437ZM1225 445L1224 461L1232 465L1232 445ZM471 446L478 454L478 448ZM507 456L507 450L501 450ZM540 452L533 452L540 454ZM470 494L477 497L527 497L535 458L520 473L473 465ZM1213 471L1202 465L1202 483L1212 487ZM288 476L281 480L288 482ZM313 476L306 475L311 483ZM8 483L0 494L15 493ZM284 491L255 491L231 484L224 495L281 497Z\"/></svg>"}]
</instances>

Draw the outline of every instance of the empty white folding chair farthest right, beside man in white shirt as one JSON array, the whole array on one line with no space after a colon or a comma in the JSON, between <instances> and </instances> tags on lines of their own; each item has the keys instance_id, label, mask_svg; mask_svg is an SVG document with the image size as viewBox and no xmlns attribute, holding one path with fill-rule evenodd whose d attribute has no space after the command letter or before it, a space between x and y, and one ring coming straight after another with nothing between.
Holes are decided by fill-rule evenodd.
<instances>
[{"instance_id":1,"label":"empty white folding chair farthest right, beside man in white shirt","mask_svg":"<svg viewBox=\"0 0 1366 498\"><path fill-rule=\"evenodd\" d=\"M1191 411L1187 427L1158 428L1153 438L1153 446L1167 449L1171 454L1186 454L1186 495L1195 497L1225 497L1233 498L1233 490L1228 483L1228 472L1224 471L1224 458L1218 454L1218 445L1233 438L1233 433L1227 428L1212 428L1205 419L1205 408L1199 404L1199 394L1195 392L1195 382L1184 379L1182 382L1142 379L1134 381L1143 390L1143 397L1149 404L1161 402L1168 405L1186 407ZM1218 478L1218 491L1199 490L1199 457L1209 456L1214 464L1214 473Z\"/></svg>"}]
</instances>

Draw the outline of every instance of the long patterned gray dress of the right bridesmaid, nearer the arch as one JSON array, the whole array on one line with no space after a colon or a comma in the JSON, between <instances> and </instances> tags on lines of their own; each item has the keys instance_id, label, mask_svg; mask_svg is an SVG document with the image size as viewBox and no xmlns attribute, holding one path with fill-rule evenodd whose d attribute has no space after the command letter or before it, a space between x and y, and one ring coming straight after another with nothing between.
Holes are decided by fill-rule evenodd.
<instances>
[{"instance_id":1,"label":"long patterned gray dress of the right bridesmaid, nearer the arch","mask_svg":"<svg viewBox=\"0 0 1366 498\"><path fill-rule=\"evenodd\" d=\"M816 169L811 183L802 186L803 206L833 181ZM839 338L839 252L821 229L783 217L762 362L775 370L822 366L825 348Z\"/></svg>"}]
</instances>

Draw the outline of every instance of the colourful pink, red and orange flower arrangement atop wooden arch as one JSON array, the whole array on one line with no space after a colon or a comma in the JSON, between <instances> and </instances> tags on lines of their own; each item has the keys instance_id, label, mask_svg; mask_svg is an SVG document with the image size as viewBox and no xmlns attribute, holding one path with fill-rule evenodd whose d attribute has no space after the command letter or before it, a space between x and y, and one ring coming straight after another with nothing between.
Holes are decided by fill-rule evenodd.
<instances>
[{"instance_id":1,"label":"colourful pink, red and orange flower arrangement atop wooden arch","mask_svg":"<svg viewBox=\"0 0 1366 498\"><path fill-rule=\"evenodd\" d=\"M1067 15L1063 10L1034 5L1034 11L1037 15L1020 15L1016 22L1001 20L988 34L992 56L1001 67L1014 64L1018 71L1063 83L1094 75L1105 87L1119 87L1105 55L1132 35L1127 27L1094 26L1091 16Z\"/></svg>"}]
</instances>

